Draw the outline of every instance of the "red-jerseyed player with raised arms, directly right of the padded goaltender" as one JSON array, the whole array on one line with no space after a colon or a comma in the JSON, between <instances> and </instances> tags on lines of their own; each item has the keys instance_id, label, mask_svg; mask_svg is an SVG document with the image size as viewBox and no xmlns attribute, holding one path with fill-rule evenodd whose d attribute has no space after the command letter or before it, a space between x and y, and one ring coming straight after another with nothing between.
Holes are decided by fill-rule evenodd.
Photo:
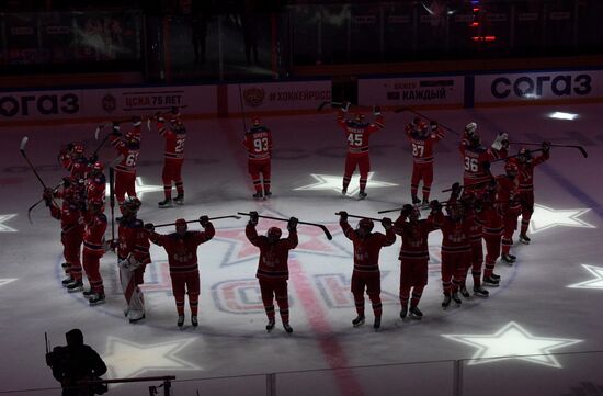
<instances>
[{"instance_id":1,"label":"red-jerseyed player with raised arms, directly right of the padded goaltender","mask_svg":"<svg viewBox=\"0 0 603 396\"><path fill-rule=\"evenodd\" d=\"M178 327L184 326L184 294L189 294L189 306L191 308L191 324L198 326L198 295L200 275L197 264L197 247L211 240L216 234L214 225L207 216L201 216L198 223L203 231L190 231L186 220L175 220L175 233L161 235L155 231L152 224L146 224L149 231L149 240L155 245L162 246L168 253L170 265L170 278L172 280L172 292L175 298L178 313Z\"/></svg>"}]
</instances>

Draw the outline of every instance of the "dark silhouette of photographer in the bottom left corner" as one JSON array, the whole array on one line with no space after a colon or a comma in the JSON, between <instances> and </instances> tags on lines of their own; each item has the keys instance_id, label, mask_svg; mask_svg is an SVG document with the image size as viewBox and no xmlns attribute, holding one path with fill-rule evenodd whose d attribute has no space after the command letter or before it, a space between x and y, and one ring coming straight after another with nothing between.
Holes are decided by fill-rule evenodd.
<instances>
[{"instance_id":1,"label":"dark silhouette of photographer in the bottom left corner","mask_svg":"<svg viewBox=\"0 0 603 396\"><path fill-rule=\"evenodd\" d=\"M102 395L106 385L82 386L82 381L98 380L106 373L106 365L90 346L83 343L80 329L65 333L66 347L55 347L46 353L46 364L53 369L53 376L62 386L62 396Z\"/></svg>"}]
</instances>

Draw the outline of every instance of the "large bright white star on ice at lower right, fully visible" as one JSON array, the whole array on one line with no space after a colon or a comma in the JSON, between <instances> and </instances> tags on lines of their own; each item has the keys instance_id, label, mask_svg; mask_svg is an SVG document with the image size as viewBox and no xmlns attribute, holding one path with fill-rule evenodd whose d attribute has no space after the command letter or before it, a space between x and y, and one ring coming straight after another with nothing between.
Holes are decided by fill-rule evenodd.
<instances>
[{"instance_id":1,"label":"large bright white star on ice at lower right, fully visible","mask_svg":"<svg viewBox=\"0 0 603 396\"><path fill-rule=\"evenodd\" d=\"M442 337L477 348L468 364L519 359L557 369L562 366L557 358L550 354L551 351L582 342L582 340L569 338L537 337L514 321L504 325L493 335L442 335Z\"/></svg>"}]
</instances>

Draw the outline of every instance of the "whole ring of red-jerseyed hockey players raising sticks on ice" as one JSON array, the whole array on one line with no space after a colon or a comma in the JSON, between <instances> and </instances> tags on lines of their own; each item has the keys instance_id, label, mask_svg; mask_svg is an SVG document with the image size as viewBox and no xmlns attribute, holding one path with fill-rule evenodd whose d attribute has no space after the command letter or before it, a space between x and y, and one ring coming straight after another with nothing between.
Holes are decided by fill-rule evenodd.
<instances>
[{"instance_id":1,"label":"whole ring of red-jerseyed hockey players raising sticks on ice","mask_svg":"<svg viewBox=\"0 0 603 396\"><path fill-rule=\"evenodd\" d=\"M338 111L337 123L343 129L348 139L348 154L342 182L342 194L346 194L351 177L356 167L360 169L359 199L365 199L366 182L369 171L369 137L384 127L384 118L378 106L373 109L374 121L366 122L364 114L354 112L352 116L350 103L344 103ZM132 122L132 127L123 133L121 124ZM130 323L138 323L146 317L143 292L145 267L150 263L150 242L164 248L168 254L172 291L175 298L178 326L184 326L184 296L189 295L192 326L198 326L200 273L197 267L197 246L209 241L215 229L207 216L201 216L198 223L203 230L189 230L184 219L178 219L173 225L175 231L159 234L150 223L144 224L137 218L141 205L136 197L136 160L140 149L141 118L113 122L112 131L103 140L111 143L117 152L117 158L111 163L114 169L114 192L110 194L113 217L113 196L117 200L121 216L117 218L117 237L112 231L112 238L105 240L107 218L105 207L104 163L92 155L84 157L81 144L69 144L61 150L59 161L70 174L55 189L45 189L43 197L53 217L60 220L61 242L64 245L65 268L68 278L62 285L69 292L83 292L90 305L105 302L103 280L100 273L100 259L105 251L113 250L117 254L120 280L126 301L125 316ZM184 184L181 170L184 161L184 142L186 129L182 122L180 109L172 108L169 112L158 112L147 120L150 131L151 122L166 140L164 165L162 171L164 200L159 207L171 207L184 204ZM450 128L446 128L452 131ZM101 128L102 131L102 128ZM454 132L454 131L452 131ZM343 234L353 244L354 268L351 281L356 314L352 324L361 326L365 321L364 293L368 295L374 313L373 327L380 327L382 302L380 276L378 267L379 251L383 247L396 241L396 235L401 236L402 245L400 260L400 304L399 313L402 319L421 319L419 302L428 283L428 235L441 230L442 239L442 286L444 299L442 307L447 308L451 302L460 306L459 294L469 298L466 279L473 278L473 294L488 297L483 286L496 287L501 279L494 273L499 256L501 261L512 264L515 257L510 253L513 245L513 233L521 214L520 240L530 244L526 235L530 217L534 211L534 167L549 158L549 143L544 142L536 150L522 148L519 154L509 156L509 138L499 134L490 148L482 146L476 123L469 123L459 143L459 151L464 163L463 185L454 183L451 196L445 202L430 202L430 188L433 181L434 145L445 137L444 129L435 121L416 117L406 126L406 136L412 147L412 204L406 204L399 212L399 217L392 222L384 217L380 224L385 234L373 231L374 219L364 216L349 215L339 212ZM101 146L102 146L101 144ZM242 140L248 154L248 169L254 188L255 200L269 199L271 193L271 131L252 118L252 126L246 131ZM99 146L99 148L101 148ZM96 151L98 152L98 149ZM536 156L533 156L537 152ZM504 173L493 176L490 163L505 160ZM172 182L178 195L172 200ZM417 194L422 185L422 200ZM113 184L111 184L111 188ZM446 190L445 190L446 191ZM126 197L127 194L127 197ZM59 206L56 200L62 201ZM428 218L421 218L420 208L430 208ZM445 211L443 212L443 208ZM382 211L394 212L394 211ZM289 325L287 297L287 257L291 249L297 246L297 218L291 217L287 223L288 236L282 237L282 230L271 227L265 235L258 235L257 225L260 216L251 212L246 227L249 241L259 248L260 258L257 270L261 297L268 317L265 329L271 331L275 326L274 299L283 328L287 332ZM349 216L361 218L354 229L349 224ZM226 216L229 217L229 216ZM232 216L230 216L232 217ZM197 220L195 220L196 223ZM112 220L113 223L113 220ZM113 228L113 227L112 227ZM486 245L483 257L482 240ZM83 242L83 250L80 250ZM485 262L485 268L482 271ZM82 270L90 284L83 288Z\"/></svg>"}]
</instances>

